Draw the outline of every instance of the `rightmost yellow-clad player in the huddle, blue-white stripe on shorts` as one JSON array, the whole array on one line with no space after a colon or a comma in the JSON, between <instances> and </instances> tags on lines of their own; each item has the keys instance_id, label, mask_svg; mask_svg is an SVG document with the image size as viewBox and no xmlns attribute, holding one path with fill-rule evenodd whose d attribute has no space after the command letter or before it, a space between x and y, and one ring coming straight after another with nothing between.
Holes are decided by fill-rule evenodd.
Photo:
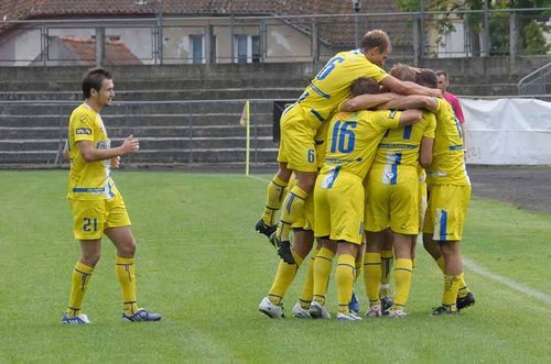
<instances>
[{"instance_id":1,"label":"rightmost yellow-clad player in the huddle, blue-white stripe on shorts","mask_svg":"<svg viewBox=\"0 0 551 364\"><path fill-rule=\"evenodd\" d=\"M421 85L436 85L434 71L423 69L417 76ZM452 106L437 99L436 137L433 161L426 169L429 206L423 227L423 245L444 273L442 306L433 315L455 315L474 305L463 275L460 242L471 199L471 181L465 161L463 134Z\"/></svg>"}]
</instances>

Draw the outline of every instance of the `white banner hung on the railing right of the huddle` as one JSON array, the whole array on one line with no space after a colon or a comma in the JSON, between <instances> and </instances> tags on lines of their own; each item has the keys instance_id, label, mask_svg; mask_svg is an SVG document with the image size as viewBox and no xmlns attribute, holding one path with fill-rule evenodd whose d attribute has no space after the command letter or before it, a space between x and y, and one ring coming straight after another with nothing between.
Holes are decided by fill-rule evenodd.
<instances>
[{"instance_id":1,"label":"white banner hung on the railing right of the huddle","mask_svg":"<svg viewBox=\"0 0 551 364\"><path fill-rule=\"evenodd\" d=\"M551 102L460 99L467 164L551 165Z\"/></svg>"}]
</instances>

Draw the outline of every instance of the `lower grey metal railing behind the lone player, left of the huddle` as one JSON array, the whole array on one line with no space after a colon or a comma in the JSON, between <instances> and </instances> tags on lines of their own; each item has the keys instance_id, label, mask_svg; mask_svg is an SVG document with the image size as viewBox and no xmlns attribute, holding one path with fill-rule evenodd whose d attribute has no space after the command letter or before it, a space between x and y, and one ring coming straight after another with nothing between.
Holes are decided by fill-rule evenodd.
<instances>
[{"instance_id":1,"label":"lower grey metal railing behind the lone player, left of the huddle","mask_svg":"<svg viewBox=\"0 0 551 364\"><path fill-rule=\"evenodd\" d=\"M101 112L114 145L132 134L140 152L123 163L245 166L276 162L271 100L250 101L250 129L239 123L245 100L116 102ZM0 101L0 167L66 164L62 151L78 102ZM249 134L249 142L247 135Z\"/></svg>"}]
</instances>

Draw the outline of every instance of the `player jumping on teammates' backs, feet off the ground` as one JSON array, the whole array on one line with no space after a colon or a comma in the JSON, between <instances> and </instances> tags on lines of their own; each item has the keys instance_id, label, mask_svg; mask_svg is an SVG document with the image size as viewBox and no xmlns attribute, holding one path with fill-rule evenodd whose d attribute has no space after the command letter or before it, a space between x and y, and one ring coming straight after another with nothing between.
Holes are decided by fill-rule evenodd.
<instances>
[{"instance_id":1,"label":"player jumping on teammates' backs, feet off the ground","mask_svg":"<svg viewBox=\"0 0 551 364\"><path fill-rule=\"evenodd\" d=\"M278 246L280 256L288 263L294 262L289 231L293 222L302 216L304 201L312 191L317 175L314 135L317 129L332 118L337 106L349 96L354 80L372 77L377 82L398 93L441 95L437 89L402 82L387 75L380 67L390 52L390 38L386 32L381 30L368 32L359 49L342 52L329 59L299 100L283 112L278 153L279 170L268 186L266 209L256 224L256 230L270 235L271 242ZM282 201L281 191L287 187L293 172L296 175L296 185ZM273 216L281 206L284 208L276 231ZM272 233L274 231L276 233Z\"/></svg>"}]
</instances>

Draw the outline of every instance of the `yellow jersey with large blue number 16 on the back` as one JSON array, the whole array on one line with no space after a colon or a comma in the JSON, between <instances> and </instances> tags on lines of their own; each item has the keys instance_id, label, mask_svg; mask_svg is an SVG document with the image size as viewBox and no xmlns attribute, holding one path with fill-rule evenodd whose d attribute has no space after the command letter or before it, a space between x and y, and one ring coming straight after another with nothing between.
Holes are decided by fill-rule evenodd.
<instances>
[{"instance_id":1,"label":"yellow jersey with large blue number 16 on the back","mask_svg":"<svg viewBox=\"0 0 551 364\"><path fill-rule=\"evenodd\" d=\"M350 173L364 179L369 172L377 146L387 129L399 126L401 111L361 110L339 112L329 122L325 159L320 175L333 174L327 188L339 173Z\"/></svg>"}]
</instances>

